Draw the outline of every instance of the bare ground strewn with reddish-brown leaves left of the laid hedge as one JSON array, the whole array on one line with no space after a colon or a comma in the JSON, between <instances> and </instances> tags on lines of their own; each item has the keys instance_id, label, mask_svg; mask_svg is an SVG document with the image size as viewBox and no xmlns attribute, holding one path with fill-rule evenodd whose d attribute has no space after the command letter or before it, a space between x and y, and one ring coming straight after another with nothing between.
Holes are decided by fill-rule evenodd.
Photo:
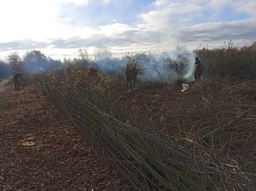
<instances>
[{"instance_id":1,"label":"bare ground strewn with reddish-brown leaves left of the laid hedge","mask_svg":"<svg viewBox=\"0 0 256 191\"><path fill-rule=\"evenodd\" d=\"M0 119L0 190L134 190L37 87L1 81Z\"/></svg>"}]
</instances>

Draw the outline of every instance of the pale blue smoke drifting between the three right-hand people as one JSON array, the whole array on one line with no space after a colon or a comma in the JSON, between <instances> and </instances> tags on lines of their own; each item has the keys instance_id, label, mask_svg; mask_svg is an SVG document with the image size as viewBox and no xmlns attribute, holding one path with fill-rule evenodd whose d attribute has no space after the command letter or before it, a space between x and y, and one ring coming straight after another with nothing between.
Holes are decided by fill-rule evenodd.
<instances>
[{"instance_id":1,"label":"pale blue smoke drifting between the three right-hand people","mask_svg":"<svg viewBox=\"0 0 256 191\"><path fill-rule=\"evenodd\" d=\"M179 76L175 71L171 70L168 64L170 60L176 60L177 55L181 54L182 57L186 57L187 68L186 73L184 73L184 79L187 81L193 81L193 68L196 55L193 53L188 53L187 51L182 54L177 51L165 51L160 54L145 54L142 60L142 63L145 64L145 70L143 75L140 76L140 79L147 79L153 81L164 80L165 82L170 82L172 79L175 79ZM97 69L107 75L117 75L120 72L124 73L126 68L127 60L122 59L111 59L105 58L96 62Z\"/></svg>"}]
</instances>

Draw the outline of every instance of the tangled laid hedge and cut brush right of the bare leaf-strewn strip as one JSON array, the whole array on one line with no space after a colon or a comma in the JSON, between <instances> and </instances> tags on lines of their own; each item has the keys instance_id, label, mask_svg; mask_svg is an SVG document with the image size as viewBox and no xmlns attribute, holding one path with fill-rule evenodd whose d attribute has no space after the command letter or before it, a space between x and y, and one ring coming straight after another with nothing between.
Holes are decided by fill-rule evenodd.
<instances>
[{"instance_id":1,"label":"tangled laid hedge and cut brush right of the bare leaf-strewn strip","mask_svg":"<svg viewBox=\"0 0 256 191\"><path fill-rule=\"evenodd\" d=\"M47 74L39 82L139 190L255 189L255 79L202 79L181 92L180 79L127 91L112 77L83 77L79 86Z\"/></svg>"}]
</instances>

